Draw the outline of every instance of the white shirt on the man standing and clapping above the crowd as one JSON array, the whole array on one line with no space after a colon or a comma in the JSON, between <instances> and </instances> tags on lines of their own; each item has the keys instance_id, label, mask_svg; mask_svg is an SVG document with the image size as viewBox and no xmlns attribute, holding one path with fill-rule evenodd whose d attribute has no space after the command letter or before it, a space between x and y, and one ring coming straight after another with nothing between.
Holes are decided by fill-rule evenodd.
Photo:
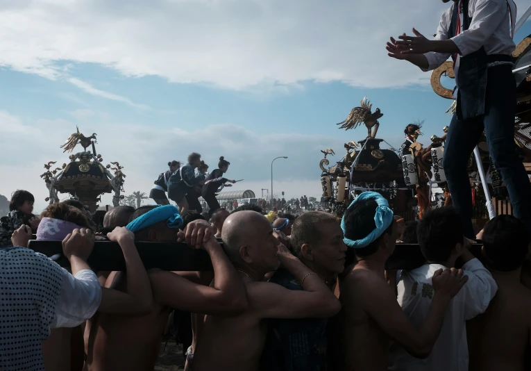
<instances>
[{"instance_id":1,"label":"white shirt on the man standing and clapping above the crowd","mask_svg":"<svg viewBox=\"0 0 531 371\"><path fill-rule=\"evenodd\" d=\"M455 3L442 15L435 40L448 40L454 6ZM469 16L472 17L469 29L452 38L462 57L481 47L487 55L510 55L514 51L516 45L509 31L510 12L506 0L470 0ZM428 69L423 69L426 72L440 67L451 54L430 52L424 56L428 59Z\"/></svg>"}]
</instances>

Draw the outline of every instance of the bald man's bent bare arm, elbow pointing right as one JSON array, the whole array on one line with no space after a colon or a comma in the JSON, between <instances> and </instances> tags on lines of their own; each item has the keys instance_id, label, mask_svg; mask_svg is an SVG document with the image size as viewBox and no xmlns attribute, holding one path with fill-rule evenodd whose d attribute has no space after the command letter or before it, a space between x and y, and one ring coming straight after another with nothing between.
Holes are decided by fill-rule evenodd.
<instances>
[{"instance_id":1,"label":"bald man's bent bare arm, elbow pointing right","mask_svg":"<svg viewBox=\"0 0 531 371\"><path fill-rule=\"evenodd\" d=\"M280 263L303 281L304 291L287 290L276 283L259 282L248 286L251 306L262 318L328 318L341 310L341 304L326 284L295 256L279 246Z\"/></svg>"}]
</instances>

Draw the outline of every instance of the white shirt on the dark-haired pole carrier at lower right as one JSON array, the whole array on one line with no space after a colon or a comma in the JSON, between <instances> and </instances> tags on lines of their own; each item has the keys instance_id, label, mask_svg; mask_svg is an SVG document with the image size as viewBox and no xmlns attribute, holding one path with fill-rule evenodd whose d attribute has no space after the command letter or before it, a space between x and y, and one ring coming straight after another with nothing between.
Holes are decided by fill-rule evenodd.
<instances>
[{"instance_id":1,"label":"white shirt on the dark-haired pole carrier at lower right","mask_svg":"<svg viewBox=\"0 0 531 371\"><path fill-rule=\"evenodd\" d=\"M432 277L444 265L429 264L403 271L398 281L398 304L416 327L424 322L432 304ZM428 358L408 354L401 345L392 343L389 370L401 371L468 371L469 349L466 343L466 320L487 310L498 286L490 272L474 258L463 265L469 280L453 297L446 309L441 333Z\"/></svg>"}]
</instances>

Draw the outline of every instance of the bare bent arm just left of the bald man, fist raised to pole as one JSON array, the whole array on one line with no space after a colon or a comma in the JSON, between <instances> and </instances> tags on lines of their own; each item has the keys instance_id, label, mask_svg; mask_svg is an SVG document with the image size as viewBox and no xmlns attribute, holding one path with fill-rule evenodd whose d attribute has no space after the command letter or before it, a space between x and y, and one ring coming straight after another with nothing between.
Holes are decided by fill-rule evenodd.
<instances>
[{"instance_id":1,"label":"bare bent arm just left of the bald man, fist raised to pole","mask_svg":"<svg viewBox=\"0 0 531 371\"><path fill-rule=\"evenodd\" d=\"M150 272L155 300L192 313L234 315L245 311L245 286L233 264L213 236L204 249L214 267L214 287L199 285L172 272Z\"/></svg>"}]
</instances>

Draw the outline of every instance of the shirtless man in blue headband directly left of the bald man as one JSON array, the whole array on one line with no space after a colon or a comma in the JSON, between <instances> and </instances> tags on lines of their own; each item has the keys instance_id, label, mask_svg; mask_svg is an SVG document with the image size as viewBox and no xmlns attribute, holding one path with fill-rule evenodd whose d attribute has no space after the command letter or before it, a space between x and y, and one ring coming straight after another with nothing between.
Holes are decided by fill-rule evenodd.
<instances>
[{"instance_id":1,"label":"shirtless man in blue headband directly left of the bald man","mask_svg":"<svg viewBox=\"0 0 531 371\"><path fill-rule=\"evenodd\" d=\"M205 249L216 278L213 287L208 287L174 272L150 270L154 310L138 317L101 313L91 329L85 370L153 370L170 308L234 315L248 305L242 280L211 233L208 222L194 220L185 232L179 232L182 220L177 208L171 205L144 206L135 211L132 219L135 220L127 227L135 231L136 240L177 242L185 239L188 245ZM113 272L106 286L125 291L125 272Z\"/></svg>"}]
</instances>

